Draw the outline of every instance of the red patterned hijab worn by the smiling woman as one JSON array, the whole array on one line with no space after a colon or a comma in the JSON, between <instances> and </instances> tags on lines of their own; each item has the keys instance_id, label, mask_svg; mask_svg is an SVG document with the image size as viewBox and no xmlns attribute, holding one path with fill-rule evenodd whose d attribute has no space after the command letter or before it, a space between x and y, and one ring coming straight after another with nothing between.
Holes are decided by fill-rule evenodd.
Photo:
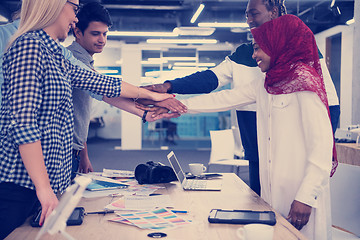
<instances>
[{"instance_id":1,"label":"red patterned hijab worn by the smiling woman","mask_svg":"<svg viewBox=\"0 0 360 240\"><path fill-rule=\"evenodd\" d=\"M312 31L298 17L288 14L251 29L251 33L271 58L265 77L266 91L275 95L314 92L329 113L318 48ZM337 165L334 142L330 176L335 173Z\"/></svg>"}]
</instances>

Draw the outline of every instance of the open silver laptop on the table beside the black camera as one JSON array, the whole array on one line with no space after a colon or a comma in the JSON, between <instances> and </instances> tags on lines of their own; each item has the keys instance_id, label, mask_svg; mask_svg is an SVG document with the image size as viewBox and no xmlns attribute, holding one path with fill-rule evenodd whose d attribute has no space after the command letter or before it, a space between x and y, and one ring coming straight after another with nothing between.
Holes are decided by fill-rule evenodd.
<instances>
[{"instance_id":1,"label":"open silver laptop on the table beside the black camera","mask_svg":"<svg viewBox=\"0 0 360 240\"><path fill-rule=\"evenodd\" d=\"M167 158L184 190L221 191L221 180L187 179L184 171L179 164L179 161L175 156L175 153L171 151L167 155Z\"/></svg>"}]
</instances>

